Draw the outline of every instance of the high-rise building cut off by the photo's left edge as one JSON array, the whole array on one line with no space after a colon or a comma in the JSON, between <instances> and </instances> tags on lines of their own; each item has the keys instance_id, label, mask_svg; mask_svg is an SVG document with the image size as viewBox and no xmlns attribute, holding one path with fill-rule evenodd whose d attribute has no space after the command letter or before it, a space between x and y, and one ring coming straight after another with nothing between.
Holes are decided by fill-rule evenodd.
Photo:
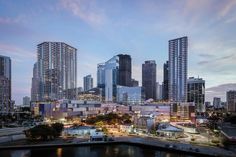
<instances>
[{"instance_id":1,"label":"high-rise building cut off by the photo's left edge","mask_svg":"<svg viewBox=\"0 0 236 157\"><path fill-rule=\"evenodd\" d=\"M0 55L0 114L12 111L11 59Z\"/></svg>"}]
</instances>

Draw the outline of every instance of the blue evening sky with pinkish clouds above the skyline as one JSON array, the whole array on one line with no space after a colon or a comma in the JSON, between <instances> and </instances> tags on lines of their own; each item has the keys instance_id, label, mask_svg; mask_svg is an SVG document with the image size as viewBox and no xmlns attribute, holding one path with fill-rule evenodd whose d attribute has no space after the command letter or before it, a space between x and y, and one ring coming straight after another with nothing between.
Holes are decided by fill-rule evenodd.
<instances>
[{"instance_id":1,"label":"blue evening sky with pinkish clouds above the skyline","mask_svg":"<svg viewBox=\"0 0 236 157\"><path fill-rule=\"evenodd\" d=\"M0 0L0 54L12 59L12 97L30 96L37 45L65 42L78 49L78 86L97 64L132 57L141 84L145 60L162 82L168 40L188 36L188 76L206 88L236 82L236 0Z\"/></svg>"}]
</instances>

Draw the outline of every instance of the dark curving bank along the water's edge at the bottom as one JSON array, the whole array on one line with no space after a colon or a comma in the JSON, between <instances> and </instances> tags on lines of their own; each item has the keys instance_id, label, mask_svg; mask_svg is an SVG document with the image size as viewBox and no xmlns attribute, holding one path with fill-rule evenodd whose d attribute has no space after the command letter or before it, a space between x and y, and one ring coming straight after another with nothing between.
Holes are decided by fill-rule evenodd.
<instances>
[{"instance_id":1,"label":"dark curving bank along the water's edge at the bottom","mask_svg":"<svg viewBox=\"0 0 236 157\"><path fill-rule=\"evenodd\" d=\"M236 154L232 151L225 150L218 147L195 146L191 144L160 141L153 138L140 137L118 137L115 141L99 141L99 142L78 142L78 143L46 143L46 144L32 144L32 145L15 145L15 146L0 146L1 150L24 150L24 149L44 149L57 147L78 147L78 146L93 146L93 145L110 145L110 144L127 144L139 147L148 147L158 150L165 150L170 152L180 152L195 156L224 156L233 157ZM190 149L191 148L191 149ZM196 151L198 150L198 151Z\"/></svg>"}]
</instances>

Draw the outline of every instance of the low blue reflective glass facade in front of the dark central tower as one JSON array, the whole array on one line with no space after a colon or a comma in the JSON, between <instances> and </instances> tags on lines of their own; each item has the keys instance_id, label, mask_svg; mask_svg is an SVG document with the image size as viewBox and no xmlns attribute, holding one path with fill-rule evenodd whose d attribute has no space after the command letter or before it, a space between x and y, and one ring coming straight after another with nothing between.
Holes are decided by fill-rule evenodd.
<instances>
[{"instance_id":1,"label":"low blue reflective glass facade in front of the dark central tower","mask_svg":"<svg viewBox=\"0 0 236 157\"><path fill-rule=\"evenodd\" d=\"M117 86L117 103L124 105L140 105L144 101L142 87Z\"/></svg>"}]
</instances>

